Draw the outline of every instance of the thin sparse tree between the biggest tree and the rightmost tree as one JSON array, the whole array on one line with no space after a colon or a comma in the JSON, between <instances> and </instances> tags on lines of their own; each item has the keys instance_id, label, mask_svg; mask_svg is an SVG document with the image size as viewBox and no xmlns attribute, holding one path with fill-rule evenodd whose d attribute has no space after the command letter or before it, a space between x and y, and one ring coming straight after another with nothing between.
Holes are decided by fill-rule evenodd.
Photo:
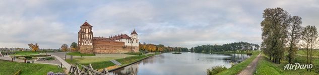
<instances>
[{"instance_id":1,"label":"thin sparse tree between the biggest tree and the rightmost tree","mask_svg":"<svg viewBox=\"0 0 319 75\"><path fill-rule=\"evenodd\" d=\"M301 26L301 17L292 16L291 18L291 26L289 32L289 49L288 49L288 62L291 63L292 59L295 58L296 50L298 49L297 43L299 42L301 36L301 30L303 29Z\"/></svg>"}]
</instances>

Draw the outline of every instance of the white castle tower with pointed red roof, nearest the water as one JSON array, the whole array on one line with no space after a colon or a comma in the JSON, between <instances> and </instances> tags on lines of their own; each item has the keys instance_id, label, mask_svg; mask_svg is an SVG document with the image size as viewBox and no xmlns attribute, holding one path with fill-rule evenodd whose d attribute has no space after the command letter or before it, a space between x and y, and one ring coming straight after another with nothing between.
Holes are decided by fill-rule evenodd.
<instances>
[{"instance_id":1,"label":"white castle tower with pointed red roof, nearest the water","mask_svg":"<svg viewBox=\"0 0 319 75\"><path fill-rule=\"evenodd\" d=\"M135 29L131 33L131 38L132 38L132 50L134 50L135 52L139 52L139 37Z\"/></svg>"}]
</instances>

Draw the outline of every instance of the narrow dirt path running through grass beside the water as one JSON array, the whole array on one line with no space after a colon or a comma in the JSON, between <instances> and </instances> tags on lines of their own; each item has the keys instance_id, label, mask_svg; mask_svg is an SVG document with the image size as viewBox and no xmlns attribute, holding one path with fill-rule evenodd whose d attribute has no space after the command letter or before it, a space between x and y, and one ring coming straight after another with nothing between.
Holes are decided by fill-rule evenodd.
<instances>
[{"instance_id":1,"label":"narrow dirt path running through grass beside the water","mask_svg":"<svg viewBox=\"0 0 319 75\"><path fill-rule=\"evenodd\" d=\"M254 58L248 65L245 69L241 70L238 75L252 75L253 72L254 72L254 69L256 69L256 66L257 66L257 63L258 63L258 60L259 58L261 57L261 54L262 53L259 53L257 55L256 58Z\"/></svg>"}]
</instances>

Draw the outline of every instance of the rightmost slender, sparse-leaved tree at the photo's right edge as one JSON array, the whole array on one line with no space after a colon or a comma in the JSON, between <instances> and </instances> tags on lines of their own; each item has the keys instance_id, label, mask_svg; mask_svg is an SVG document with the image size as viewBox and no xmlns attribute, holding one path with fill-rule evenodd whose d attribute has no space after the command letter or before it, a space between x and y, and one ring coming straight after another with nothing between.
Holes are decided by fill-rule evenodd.
<instances>
[{"instance_id":1,"label":"rightmost slender, sparse-leaved tree at the photo's right edge","mask_svg":"<svg viewBox=\"0 0 319 75\"><path fill-rule=\"evenodd\" d=\"M315 26L307 25L301 32L302 46L306 48L307 64L312 61L312 49L317 43L318 32ZM310 51L309 51L310 50ZM309 58L310 55L310 58ZM308 69L307 69L308 70ZM311 71L311 70L310 70Z\"/></svg>"}]
</instances>

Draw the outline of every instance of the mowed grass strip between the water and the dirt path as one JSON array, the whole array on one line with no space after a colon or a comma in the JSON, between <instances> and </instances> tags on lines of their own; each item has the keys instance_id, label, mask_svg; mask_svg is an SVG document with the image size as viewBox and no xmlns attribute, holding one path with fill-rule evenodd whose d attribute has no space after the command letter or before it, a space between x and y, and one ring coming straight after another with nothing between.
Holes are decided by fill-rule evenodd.
<instances>
[{"instance_id":1,"label":"mowed grass strip between the water and the dirt path","mask_svg":"<svg viewBox=\"0 0 319 75\"><path fill-rule=\"evenodd\" d=\"M227 70L224 70L220 73L217 73L217 74L221 74L221 75L232 75L232 74L237 74L239 73L241 70L245 69L247 67L247 65L254 59L256 58L256 56L258 55L259 53L257 52L254 52L252 53L252 56L250 56L248 59L228 68Z\"/></svg>"}]
</instances>

